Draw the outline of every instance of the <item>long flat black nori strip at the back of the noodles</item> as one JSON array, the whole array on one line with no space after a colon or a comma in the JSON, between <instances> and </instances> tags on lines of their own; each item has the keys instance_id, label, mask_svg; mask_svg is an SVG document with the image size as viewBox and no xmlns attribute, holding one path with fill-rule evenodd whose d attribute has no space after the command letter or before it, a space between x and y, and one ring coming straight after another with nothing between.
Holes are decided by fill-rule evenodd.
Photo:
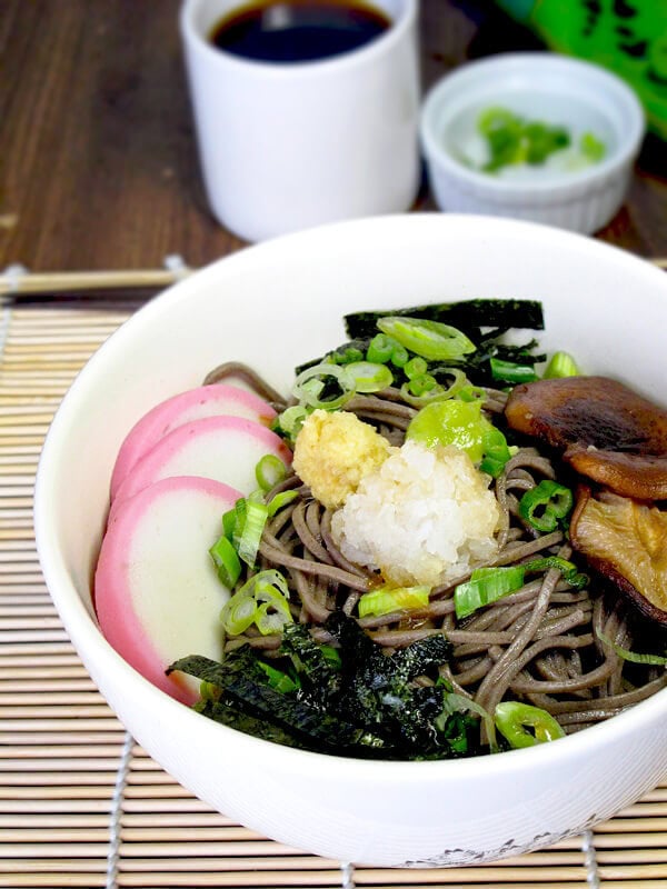
<instances>
[{"instance_id":1,"label":"long flat black nori strip at the back of the noodles","mask_svg":"<svg viewBox=\"0 0 667 889\"><path fill-rule=\"evenodd\" d=\"M479 329L485 327L545 329L542 307L538 300L470 299L432 306L412 306L406 309L351 312L344 319L348 337L351 339L375 337L378 332L378 319L386 316L441 321L458 328L472 341L479 338Z\"/></svg>"}]
</instances>

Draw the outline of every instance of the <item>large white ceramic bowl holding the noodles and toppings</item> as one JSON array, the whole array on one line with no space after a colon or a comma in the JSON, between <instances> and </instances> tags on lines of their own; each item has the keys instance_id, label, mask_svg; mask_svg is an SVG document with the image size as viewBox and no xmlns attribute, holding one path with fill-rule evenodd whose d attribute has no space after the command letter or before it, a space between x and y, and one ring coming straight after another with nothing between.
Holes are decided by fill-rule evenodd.
<instances>
[{"instance_id":1,"label":"large white ceramic bowl holding the noodles and toppings","mask_svg":"<svg viewBox=\"0 0 667 889\"><path fill-rule=\"evenodd\" d=\"M98 630L90 579L121 439L225 359L286 389L344 339L341 316L474 297L539 298L546 348L665 400L667 277L600 242L439 213L347 222L246 249L149 302L90 360L40 461L36 530L56 606L137 740L211 806L310 852L375 865L491 860L576 835L667 771L667 691L551 745L439 762L362 761L275 746L151 686ZM610 777L613 776L613 780Z\"/></svg>"}]
</instances>

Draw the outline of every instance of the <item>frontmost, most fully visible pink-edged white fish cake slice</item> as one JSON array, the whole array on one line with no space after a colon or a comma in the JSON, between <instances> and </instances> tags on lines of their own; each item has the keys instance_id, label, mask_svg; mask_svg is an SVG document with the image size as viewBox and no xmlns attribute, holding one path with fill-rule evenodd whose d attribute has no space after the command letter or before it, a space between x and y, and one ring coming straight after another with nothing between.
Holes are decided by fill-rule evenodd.
<instances>
[{"instance_id":1,"label":"frontmost, most fully visible pink-edged white fish cake slice","mask_svg":"<svg viewBox=\"0 0 667 889\"><path fill-rule=\"evenodd\" d=\"M188 655L219 660L227 599L209 548L222 513L241 497L218 481L162 479L109 521L94 576L94 608L107 641L138 672L183 703L199 682L166 668Z\"/></svg>"}]
</instances>

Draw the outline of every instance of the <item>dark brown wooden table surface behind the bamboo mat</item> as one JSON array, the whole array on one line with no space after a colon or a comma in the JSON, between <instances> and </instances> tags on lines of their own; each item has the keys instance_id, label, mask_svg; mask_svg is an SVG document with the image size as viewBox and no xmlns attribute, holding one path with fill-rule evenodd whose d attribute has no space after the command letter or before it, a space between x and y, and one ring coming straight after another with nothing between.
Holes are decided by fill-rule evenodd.
<instances>
[{"instance_id":1,"label":"dark brown wooden table surface behind the bamboo mat","mask_svg":"<svg viewBox=\"0 0 667 889\"><path fill-rule=\"evenodd\" d=\"M192 267L242 246L200 179L178 0L0 0L0 269ZM490 0L422 0L425 89L466 59L538 47ZM597 237L667 256L667 146L649 138ZM432 209L426 186L415 209Z\"/></svg>"}]
</instances>

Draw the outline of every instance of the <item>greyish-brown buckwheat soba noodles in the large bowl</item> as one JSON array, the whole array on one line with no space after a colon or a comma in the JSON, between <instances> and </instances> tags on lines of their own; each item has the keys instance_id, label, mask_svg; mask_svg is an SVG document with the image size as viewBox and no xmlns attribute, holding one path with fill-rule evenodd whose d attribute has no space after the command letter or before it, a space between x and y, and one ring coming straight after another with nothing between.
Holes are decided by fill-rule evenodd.
<instances>
[{"instance_id":1,"label":"greyish-brown buckwheat soba noodles in the large bowl","mask_svg":"<svg viewBox=\"0 0 667 889\"><path fill-rule=\"evenodd\" d=\"M245 366L222 366L206 381L218 382L230 376L242 376L278 409L286 407L278 393ZM484 409L501 414L506 394L487 389L485 396ZM392 444L402 442L417 412L394 388L355 396L345 410L372 423ZM571 557L560 531L540 533L518 515L521 495L545 478L555 479L557 472L557 466L534 448L520 449L508 461L495 482L501 527L499 550L489 567L516 565L537 553ZM330 641L321 625L336 609L356 616L359 597L377 586L377 576L345 558L331 537L331 511L311 497L293 472L267 499L290 488L298 497L265 528L258 567L282 570L296 593L295 619L312 625L319 641ZM601 635L631 649L635 622L629 607L600 581L591 578L586 589L575 590L558 570L546 570L516 592L457 621L454 589L468 579L469 575L462 576L432 590L426 608L409 615L366 617L359 625L387 650L444 633L454 652L440 669L457 692L490 712L505 698L534 703L550 712L566 732L607 719L667 686L664 668L628 663L600 641ZM249 630L227 645L236 648L245 643L270 650L280 639Z\"/></svg>"}]
</instances>

